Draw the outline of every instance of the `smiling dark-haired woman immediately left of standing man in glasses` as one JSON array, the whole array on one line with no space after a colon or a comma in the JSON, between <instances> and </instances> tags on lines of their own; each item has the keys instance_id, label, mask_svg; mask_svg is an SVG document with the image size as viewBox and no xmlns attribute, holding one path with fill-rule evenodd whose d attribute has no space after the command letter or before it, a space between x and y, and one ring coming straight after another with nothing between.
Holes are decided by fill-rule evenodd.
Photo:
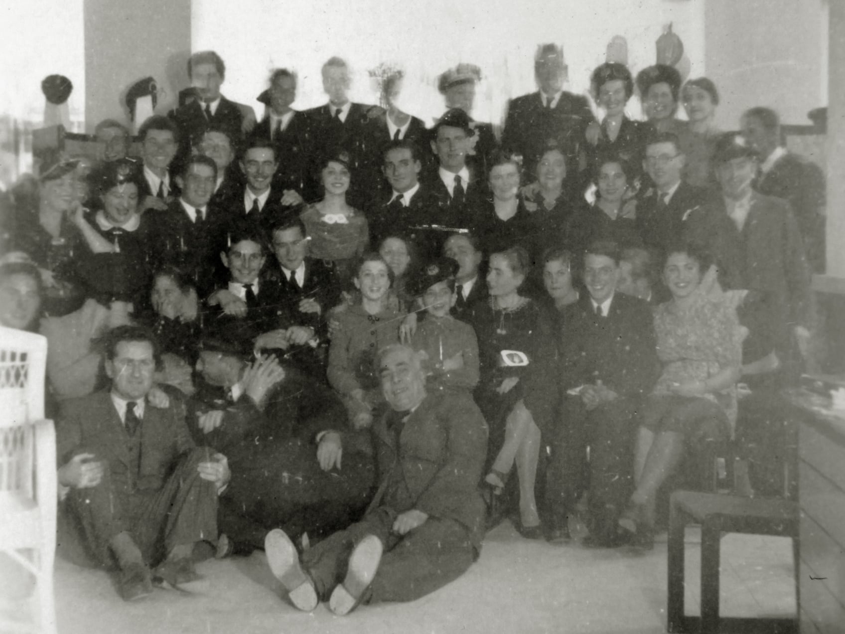
<instances>
[{"instance_id":1,"label":"smiling dark-haired woman immediately left of standing man in glasses","mask_svg":"<svg viewBox=\"0 0 845 634\"><path fill-rule=\"evenodd\" d=\"M618 155L597 159L593 182L597 186L596 201L582 201L570 217L566 246L573 253L583 253L597 240L612 240L621 247L642 245L636 228L636 205L631 198L630 163Z\"/></svg>"}]
</instances>

